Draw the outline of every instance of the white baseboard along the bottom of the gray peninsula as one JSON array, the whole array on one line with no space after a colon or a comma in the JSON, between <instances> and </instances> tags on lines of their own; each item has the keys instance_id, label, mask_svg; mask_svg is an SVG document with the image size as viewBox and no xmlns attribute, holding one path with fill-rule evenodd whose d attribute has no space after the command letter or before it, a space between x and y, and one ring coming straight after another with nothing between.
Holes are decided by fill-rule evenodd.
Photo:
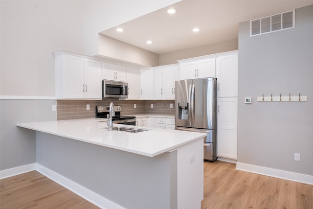
<instances>
[{"instance_id":1,"label":"white baseboard along the bottom of the gray peninsula","mask_svg":"<svg viewBox=\"0 0 313 209\"><path fill-rule=\"evenodd\" d=\"M102 209L125 209L122 206L119 206L116 203L113 203L112 201L89 190L88 188L81 186L38 163L36 170L41 174L45 175L47 178L51 179L52 181L58 183L61 186L66 187L68 190L74 192L78 196L81 196L85 200L96 205L97 207L100 207Z\"/></svg>"}]
</instances>

